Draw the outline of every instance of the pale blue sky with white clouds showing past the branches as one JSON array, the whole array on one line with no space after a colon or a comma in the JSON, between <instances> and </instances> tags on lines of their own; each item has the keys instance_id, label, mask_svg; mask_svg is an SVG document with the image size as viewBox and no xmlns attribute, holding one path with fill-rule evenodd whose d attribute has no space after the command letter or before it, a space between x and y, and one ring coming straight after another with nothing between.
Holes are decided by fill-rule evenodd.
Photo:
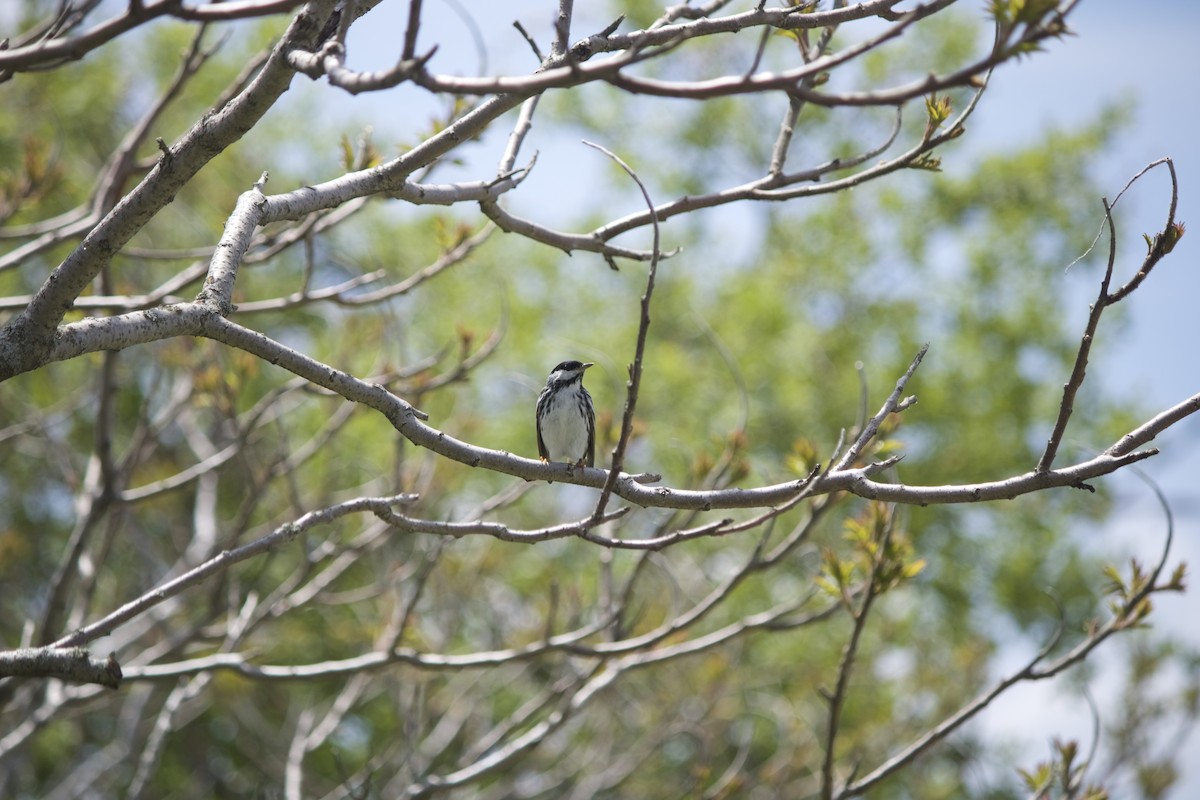
<instances>
[{"instance_id":1,"label":"pale blue sky with white clouds showing past the branches","mask_svg":"<svg viewBox=\"0 0 1200 800\"><path fill-rule=\"evenodd\" d=\"M521 74L529 68L532 55L511 22L521 19L545 42L554 5L551 0L427 2L425 11L430 22L422 29L422 38L426 46L437 41L440 48L432 67L463 74L488 70ZM964 5L971 7L971 2ZM576 35L602 28L608 22L590 16L595 12L588 4L577 2L576 6ZM984 0L974 6L982 17ZM398 14L404 7L407 4L386 4L372 12L374 22L371 25L354 29L362 38L360 44L350 42L350 66L374 70L390 66L386 59L378 56L395 52L403 19L386 14ZM1090 381L1103 381L1108 391L1134 398L1153 413L1200 392L1200 355L1196 354L1200 337L1194 308L1200 299L1200 264L1196 263L1200 212L1194 200L1200 196L1200 110L1194 85L1200 76L1200 2L1082 0L1068 18L1068 26L1073 36L1049 42L1044 52L996 71L965 138L970 138L970 148L979 154L1012 149L1036 140L1051 127L1073 128L1092 121L1100 108L1117 102L1132 108L1132 121L1103 162L1094 164L1106 197L1115 198L1126 182L1152 161L1164 156L1174 160L1180 182L1177 218L1193 221L1193 228L1145 285L1126 301L1124 324L1120 327L1102 324L1097 351L1103 354L1104 369L1093 368L1088 375ZM438 29L440 35L436 32ZM448 31L457 31L457 35ZM462 35L463 31L472 36ZM485 47L476 48L476 41ZM479 62L481 53L486 64ZM355 62L356 56L362 61ZM378 102L378 96L344 102L347 108L361 109L364 104ZM420 116L412 107L392 113L397 118ZM542 180L539 173L552 173L556 168L547 164L552 164L556 156L580 158L582 149L575 146L577 144L562 144L565 155L544 152L534 176L522 187L522 199L536 197L538 180ZM546 143L540 142L538 146L546 148ZM947 168L952 168L952 163L961 163L958 154ZM577 164L568 162L568 167ZM1141 261L1145 253L1141 234L1162 229L1169 199L1168 173L1158 168L1121 200L1116 209L1121 245L1118 281L1121 276L1132 275ZM556 201L560 201L560 197ZM1102 223L1097 198L1097 231ZM1100 247L1106 247L1106 240ZM1064 302L1074 300L1064 299ZM1070 309L1070 313L1073 318L1082 318L1086 308ZM1192 419L1162 435L1156 445L1164 453L1141 464L1145 474L1164 491L1175 516L1172 564L1186 560L1194 569L1200 569L1198 443L1200 419ZM1118 474L1105 481L1117 493L1118 513L1103 530L1079 531L1078 535L1085 541L1094 537L1105 552L1123 551L1144 563L1153 563L1163 542L1164 518L1152 492L1132 474ZM1182 596L1160 597L1156 603L1156 626L1200 648L1198 619L1200 585ZM1003 661L1015 666L1027 655L1027 643L1022 642L1013 646ZM1116 666L1103 655L1097 666L1097 705L1102 715L1112 714L1121 699L1112 696L1112 688L1118 686ZM1012 699L989 709L979 724L985 732L1026 736L1026 758L1037 759L1046 756L1052 736L1090 741L1092 717L1074 690L1048 681L1022 688ZM1200 798L1200 735L1190 735L1183 753L1183 778L1171 796Z\"/></svg>"}]
</instances>

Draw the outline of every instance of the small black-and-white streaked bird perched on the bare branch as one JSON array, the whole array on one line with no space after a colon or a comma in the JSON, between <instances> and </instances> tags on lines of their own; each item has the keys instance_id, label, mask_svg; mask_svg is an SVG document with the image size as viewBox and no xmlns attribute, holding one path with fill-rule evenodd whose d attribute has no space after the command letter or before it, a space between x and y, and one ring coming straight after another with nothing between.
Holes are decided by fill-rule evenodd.
<instances>
[{"instance_id":1,"label":"small black-and-white streaked bird perched on the bare branch","mask_svg":"<svg viewBox=\"0 0 1200 800\"><path fill-rule=\"evenodd\" d=\"M563 361L546 379L538 396L538 452L542 461L595 464L596 415L592 395L583 389L583 373L592 366Z\"/></svg>"}]
</instances>

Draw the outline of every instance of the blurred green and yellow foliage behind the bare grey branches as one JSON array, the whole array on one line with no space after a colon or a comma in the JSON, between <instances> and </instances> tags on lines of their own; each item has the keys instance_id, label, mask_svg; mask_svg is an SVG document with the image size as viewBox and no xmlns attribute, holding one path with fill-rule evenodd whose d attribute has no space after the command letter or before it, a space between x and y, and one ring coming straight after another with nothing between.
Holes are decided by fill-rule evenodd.
<instances>
[{"instance_id":1,"label":"blurred green and yellow foliage behind the bare grey branches","mask_svg":"<svg viewBox=\"0 0 1200 800\"><path fill-rule=\"evenodd\" d=\"M623 5L634 24L659 11L653 4ZM937 25L918 28L920 38L908 49L877 52L863 65L864 74L928 70L930 54L938 65L960 62L978 37L973 24L950 16ZM277 28L270 23L246 28L227 42L156 124L150 142L155 136L170 142L199 118L272 30ZM188 35L181 26L163 25L137 41L134 53L106 48L84 64L22 76L4 86L0 163L24 164L32 187L26 201L16 203L22 168L0 172L0 204L14 206L10 224L44 219L85 198L107 154L164 85ZM678 68L686 72L700 59L726 64L732 50L725 47L732 46L719 42ZM923 48L919 58L912 55ZM128 72L130 61L162 67ZM114 74L127 79L113 80ZM602 137L664 200L762 173L772 137L761 133L778 127L784 109L781 97L762 100L654 101L658 110L648 114L647 98L589 86L556 94L544 104L536 130L547 138L564 131ZM959 108L961 97L952 102ZM353 158L335 143L358 142L359 124L313 112L304 101L289 101L269 115L260 130L180 192L134 240L136 248L211 246L238 193L264 167L271 170L272 187L290 187L332 174L341 161ZM821 162L857 152L890 125L886 115L868 114L851 130L852 116L858 119L859 112L806 110L793 158ZM924 124L906 120L906 130ZM1050 132L1034 145L978 162L960 158L955 144L941 154L941 173L913 172L854 192L667 222L665 241L685 249L660 267L638 437L626 469L661 473L671 486L702 485L721 463L731 467L718 481L752 486L794 479L828 462L841 432L853 428L864 410L875 411L925 342L929 355L910 384L919 403L889 421L887 446L905 456L895 475L936 485L1032 469L1078 345L1069 306L1080 300L1094 265L1076 265L1066 275L1063 267L1094 234L1102 191L1090 178L1090 164L1104 156L1120 124L1105 113L1082 130ZM374 146L388 157L391 145ZM155 151L139 156L152 158ZM628 179L617 170L605 175L584 216L606 207L606 198L628 203ZM236 300L295 291L310 266L314 285L372 270L397 279L456 242L463 224L478 221L455 211L373 201L313 239L307 254L293 248L247 265ZM52 251L0 273L0 294L31 291L65 252ZM179 269L178 260L122 254L109 277L113 291L144 291ZM176 294L196 289L198 284ZM527 456L534 452L534 397L550 366L568 356L595 361L588 378L601 410L600 452L607 458L643 289L640 265L613 272L589 255L564 259L496 234L461 265L386 303L311 305L238 319L360 377L413 368L398 392L427 411L434 426ZM454 377L457 362L497 331L503 338L490 360ZM361 494L419 492L420 500L406 512L470 518L480 503L511 485L415 451L384 420L361 409L346 411L337 398L284 391L281 371L211 342L172 341L53 365L0 385L0 428L29 428L18 434L10 427L11 435L0 443L0 637L6 645L20 642L23 627L43 613L44 588L76 523L72 498L85 480L101 413L91 392L106 359L115 365L110 446L136 464L128 487L211 456L194 431L217 447L248 437L248 446L223 464L216 485L203 489L220 498L215 549ZM430 389L448 375L449 387ZM1076 403L1073 440L1106 445L1138 411L1085 392ZM331 428L342 413L349 414L347 421ZM293 463L298 452L306 458ZM526 488L498 515L512 527L534 528L589 511L589 493L557 485ZM1036 650L1060 625L1067 631L1062 648L1079 640L1087 620L1103 613L1102 563L1109 554L1072 531L1110 510L1111 499L1099 488L1098 494L1061 491L1002 505L894 512L902 528L888 545L895 569L881 587L888 594L859 645L839 758L876 764L890 756L898 742L980 691L994 676L1001 646L1015 640ZM89 618L164 577L193 540L200 491L190 483L109 510L100 523L103 569L96 572ZM835 587L840 578L830 577L833 565L846 567L846 579L864 575L876 552L863 533L871 512L863 501L841 500L781 569L739 584L698 630L714 631L743 614L798 601L817 581ZM808 515L804 507L781 515L766 541L782 541ZM612 533L632 539L668 523L682 524L680 516L641 511ZM346 518L194 589L172 609L155 657L214 651L229 597L282 601L319 581L330 569L326 554L337 546L350 548L353 564L314 589L314 602L272 612L268 624L240 643L241 651L276 664L353 656L372 649L396 609L414 599L402 646L433 652L515 648L547 631L595 621L604 599L625 585L631 587L630 602L613 634L646 632L700 600L760 543L757 534L749 534L701 539L658 554L607 553L575 540L535 547L484 537L438 541L380 533L373 524ZM1054 601L1044 594L1046 587ZM631 669L553 745L491 778L491 789L503 795L505 786L551 787L544 789L551 796L554 781L563 782L558 788L582 784L572 764L619 765L636 758L619 782L592 787L593 796L700 796L719 783L724 789L716 796L756 796L755 787L803 796L817 786L824 746L827 705L817 690L835 680L848 630L850 619L834 615L821 625L740 637L701 655ZM196 632L190 644L172 644L188 640L190 631ZM1121 751L1115 758L1136 775L1141 796L1158 798L1171 783L1172 763L1156 762L1145 736L1174 709L1139 700L1152 692L1171 657L1182 654L1142 646L1148 650L1135 660L1140 667L1128 681L1134 708L1114 721ZM378 763L450 769L491 724L556 680L586 672L582 662L559 654L490 670L386 667L338 733L306 760L308 780L314 790L358 781L354 790L361 796L388 796L388 787L370 778ZM269 794L265 787L280 774L287 750L280 732L290 730L305 709L328 709L343 685L336 676L263 681L215 674L204 702L194 703L194 711L168 735L149 794ZM138 724L114 717L125 697L157 709L168 691L167 684L134 682L121 696L102 696L89 710L46 726L28 750L32 768L18 784L19 795L34 796L61 777L65 764L115 736L132 735ZM1184 712L1194 717L1196 691L1190 691ZM461 727L448 730L449 741L434 762L422 764L415 736L443 720ZM1015 765L1001 775L983 769L995 765L997 746L968 729L870 796L1019 796ZM564 764L568 750L577 753ZM739 769L726 781L732 764ZM1025 772L1024 781L1032 789L1076 768L1076 753L1061 745L1054 762ZM98 786L122 787L134 770L136 757L113 765Z\"/></svg>"}]
</instances>

